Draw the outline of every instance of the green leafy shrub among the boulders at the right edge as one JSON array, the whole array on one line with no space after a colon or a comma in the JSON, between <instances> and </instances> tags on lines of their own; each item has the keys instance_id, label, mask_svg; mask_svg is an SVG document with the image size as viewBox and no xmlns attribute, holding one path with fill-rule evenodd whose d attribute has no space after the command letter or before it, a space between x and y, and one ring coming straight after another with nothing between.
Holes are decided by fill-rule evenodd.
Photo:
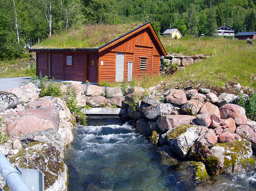
<instances>
[{"instance_id":1,"label":"green leafy shrub among the boulders at the right edge","mask_svg":"<svg viewBox=\"0 0 256 191\"><path fill-rule=\"evenodd\" d=\"M246 116L251 120L256 120L256 93L253 91L249 96L240 94L235 100L236 105L245 109Z\"/></svg>"}]
</instances>

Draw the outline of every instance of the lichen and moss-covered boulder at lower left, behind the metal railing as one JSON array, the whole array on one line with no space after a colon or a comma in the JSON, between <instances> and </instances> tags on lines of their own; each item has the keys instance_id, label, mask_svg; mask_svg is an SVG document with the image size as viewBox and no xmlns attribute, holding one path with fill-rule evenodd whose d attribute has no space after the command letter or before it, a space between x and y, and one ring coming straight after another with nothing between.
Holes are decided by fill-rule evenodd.
<instances>
[{"instance_id":1,"label":"lichen and moss-covered boulder at lower left, behind the metal railing","mask_svg":"<svg viewBox=\"0 0 256 191\"><path fill-rule=\"evenodd\" d=\"M12 165L20 168L39 168L44 173L45 191L66 191L68 185L68 168L60 152L51 144L33 142L26 145L28 148L28 163L26 152L20 150L10 159Z\"/></svg>"}]
</instances>

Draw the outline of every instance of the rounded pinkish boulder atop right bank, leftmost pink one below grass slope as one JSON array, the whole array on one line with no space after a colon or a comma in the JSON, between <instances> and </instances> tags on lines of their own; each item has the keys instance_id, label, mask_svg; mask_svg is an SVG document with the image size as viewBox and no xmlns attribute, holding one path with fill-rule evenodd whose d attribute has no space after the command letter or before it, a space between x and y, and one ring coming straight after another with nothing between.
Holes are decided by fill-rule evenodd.
<instances>
[{"instance_id":1,"label":"rounded pinkish boulder atop right bank, leftmost pink one below grass slope","mask_svg":"<svg viewBox=\"0 0 256 191\"><path fill-rule=\"evenodd\" d=\"M187 102L187 96L183 90L171 90L166 101L167 103L183 105Z\"/></svg>"}]
</instances>

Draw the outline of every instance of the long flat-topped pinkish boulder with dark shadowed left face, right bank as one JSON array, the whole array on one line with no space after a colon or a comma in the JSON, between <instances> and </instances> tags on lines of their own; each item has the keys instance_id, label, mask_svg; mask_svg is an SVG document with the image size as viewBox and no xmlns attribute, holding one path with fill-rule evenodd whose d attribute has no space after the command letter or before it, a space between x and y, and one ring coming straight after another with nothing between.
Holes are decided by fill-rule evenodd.
<instances>
[{"instance_id":1,"label":"long flat-topped pinkish boulder with dark shadowed left face, right bank","mask_svg":"<svg viewBox=\"0 0 256 191\"><path fill-rule=\"evenodd\" d=\"M156 123L162 132L167 132L175 126L189 125L195 118L191 115L162 115Z\"/></svg>"}]
</instances>

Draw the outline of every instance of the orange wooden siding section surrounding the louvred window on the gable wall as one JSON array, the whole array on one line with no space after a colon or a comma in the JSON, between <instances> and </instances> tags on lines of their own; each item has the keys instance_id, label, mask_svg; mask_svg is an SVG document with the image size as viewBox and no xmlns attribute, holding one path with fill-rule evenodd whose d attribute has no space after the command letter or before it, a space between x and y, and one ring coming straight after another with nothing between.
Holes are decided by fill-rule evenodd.
<instances>
[{"instance_id":1,"label":"orange wooden siding section surrounding the louvred window on the gable wall","mask_svg":"<svg viewBox=\"0 0 256 191\"><path fill-rule=\"evenodd\" d=\"M146 59L146 70L140 70L140 58ZM152 48L149 47L135 47L133 77L142 77L145 74L151 75L152 70Z\"/></svg>"}]
</instances>

